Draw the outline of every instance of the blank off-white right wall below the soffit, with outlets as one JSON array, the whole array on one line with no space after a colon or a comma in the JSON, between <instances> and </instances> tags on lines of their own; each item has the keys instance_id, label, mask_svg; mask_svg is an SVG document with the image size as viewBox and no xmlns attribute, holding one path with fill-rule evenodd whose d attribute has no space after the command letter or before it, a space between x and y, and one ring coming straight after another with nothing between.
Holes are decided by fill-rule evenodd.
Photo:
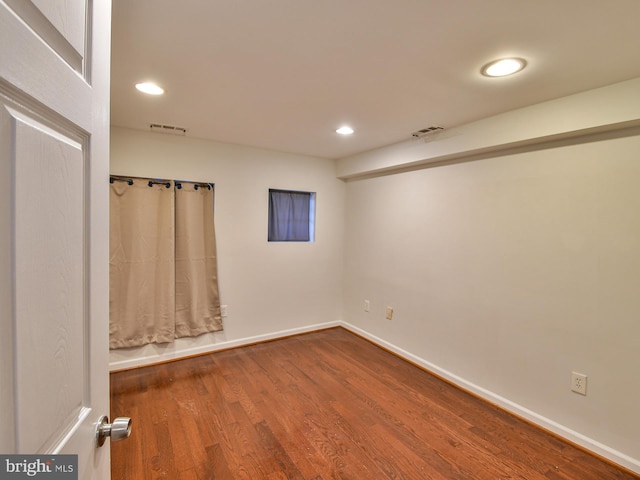
<instances>
[{"instance_id":1,"label":"blank off-white right wall below the soffit, with outlets","mask_svg":"<svg viewBox=\"0 0 640 480\"><path fill-rule=\"evenodd\" d=\"M347 183L344 320L640 472L640 129L359 173ZM572 370L588 375L586 397L569 390Z\"/></svg>"}]
</instances>

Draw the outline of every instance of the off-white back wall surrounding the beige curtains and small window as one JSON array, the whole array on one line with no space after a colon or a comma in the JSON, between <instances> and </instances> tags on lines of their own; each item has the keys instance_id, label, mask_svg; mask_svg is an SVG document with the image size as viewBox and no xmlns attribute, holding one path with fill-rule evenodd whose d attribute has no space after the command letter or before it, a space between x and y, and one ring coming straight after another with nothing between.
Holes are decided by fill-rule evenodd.
<instances>
[{"instance_id":1,"label":"off-white back wall surrounding the beige curtains and small window","mask_svg":"<svg viewBox=\"0 0 640 480\"><path fill-rule=\"evenodd\" d=\"M224 332L112 350L113 369L341 319L345 185L334 161L114 127L111 173L215 183L220 296L229 311ZM315 242L267 242L270 187L317 192Z\"/></svg>"}]
</instances>

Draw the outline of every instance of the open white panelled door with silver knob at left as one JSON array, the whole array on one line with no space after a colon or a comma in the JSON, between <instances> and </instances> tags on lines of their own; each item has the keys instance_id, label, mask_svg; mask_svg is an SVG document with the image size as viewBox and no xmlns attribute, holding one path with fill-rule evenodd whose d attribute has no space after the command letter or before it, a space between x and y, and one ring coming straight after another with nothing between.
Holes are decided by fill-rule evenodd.
<instances>
[{"instance_id":1,"label":"open white panelled door with silver knob at left","mask_svg":"<svg viewBox=\"0 0 640 480\"><path fill-rule=\"evenodd\" d=\"M109 478L110 0L0 0L0 452Z\"/></svg>"}]
</instances>

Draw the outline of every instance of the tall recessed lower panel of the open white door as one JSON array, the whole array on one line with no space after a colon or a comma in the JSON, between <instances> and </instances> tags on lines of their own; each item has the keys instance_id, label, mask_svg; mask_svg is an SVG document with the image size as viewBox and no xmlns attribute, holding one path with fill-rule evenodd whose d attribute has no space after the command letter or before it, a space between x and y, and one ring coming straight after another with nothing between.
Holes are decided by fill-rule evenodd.
<instances>
[{"instance_id":1,"label":"tall recessed lower panel of the open white door","mask_svg":"<svg viewBox=\"0 0 640 480\"><path fill-rule=\"evenodd\" d=\"M88 414L87 142L8 111L20 212L12 255L16 449L50 453Z\"/></svg>"}]
</instances>

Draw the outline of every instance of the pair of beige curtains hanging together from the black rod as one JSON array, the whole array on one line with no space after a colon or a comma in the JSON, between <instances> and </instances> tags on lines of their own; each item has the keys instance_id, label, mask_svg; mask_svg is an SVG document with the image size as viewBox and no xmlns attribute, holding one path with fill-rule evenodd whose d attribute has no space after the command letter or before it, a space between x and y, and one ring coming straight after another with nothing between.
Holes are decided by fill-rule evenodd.
<instances>
[{"instance_id":1,"label":"pair of beige curtains hanging together from the black rod","mask_svg":"<svg viewBox=\"0 0 640 480\"><path fill-rule=\"evenodd\" d=\"M109 347L167 343L222 330L213 188L114 180Z\"/></svg>"}]
</instances>

